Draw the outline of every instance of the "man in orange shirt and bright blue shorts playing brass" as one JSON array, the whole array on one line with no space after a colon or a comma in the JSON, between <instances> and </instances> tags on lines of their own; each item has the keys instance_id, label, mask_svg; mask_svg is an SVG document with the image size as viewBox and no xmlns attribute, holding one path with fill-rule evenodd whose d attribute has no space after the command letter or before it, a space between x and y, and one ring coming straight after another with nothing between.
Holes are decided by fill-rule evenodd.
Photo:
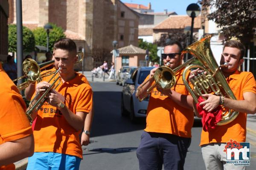
<instances>
[{"instance_id":1,"label":"man in orange shirt and bright blue shorts playing brass","mask_svg":"<svg viewBox=\"0 0 256 170\"><path fill-rule=\"evenodd\" d=\"M53 48L55 68L61 68L58 73L61 82L47 94L47 102L32 113L33 119L37 116L35 153L29 157L27 170L78 170L82 159L79 133L91 110L92 89L74 71L77 61L75 42L62 38ZM50 83L45 80L48 78L36 85L36 94L49 87Z\"/></svg>"}]
</instances>

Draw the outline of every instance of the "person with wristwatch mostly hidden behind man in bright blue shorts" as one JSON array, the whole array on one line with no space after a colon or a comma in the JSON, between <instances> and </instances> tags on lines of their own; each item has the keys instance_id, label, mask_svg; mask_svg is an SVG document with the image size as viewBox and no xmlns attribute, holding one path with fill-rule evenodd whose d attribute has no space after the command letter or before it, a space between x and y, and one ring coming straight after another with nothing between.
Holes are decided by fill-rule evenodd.
<instances>
[{"instance_id":1,"label":"person with wristwatch mostly hidden behind man in bright blue shorts","mask_svg":"<svg viewBox=\"0 0 256 170\"><path fill-rule=\"evenodd\" d=\"M51 54L51 52L47 52L47 53ZM47 53L46 53L46 55L47 55ZM51 57L51 59L54 60L54 57ZM47 69L47 68L49 68L49 69ZM56 71L54 65L48 66L47 68L46 68L46 70L42 71L41 74ZM81 77L81 80L83 82L90 85L87 78L84 75L80 74L79 72L76 72L76 74L78 74L79 77ZM50 79L51 77L52 77L52 75L50 75L48 79ZM58 74L55 77L57 78ZM31 100L33 94L35 93L35 85L36 84L37 84L37 82L30 83L29 86L25 89L24 94L25 94L25 97L27 100ZM90 129L91 129L91 125L93 122L93 114L94 113L93 113L93 106L92 106L92 109L89 111L89 113L87 114L85 121L84 121L84 128L81 133L81 145L87 146L90 142ZM35 122L36 122L36 119L32 123L32 128L35 127Z\"/></svg>"}]
</instances>

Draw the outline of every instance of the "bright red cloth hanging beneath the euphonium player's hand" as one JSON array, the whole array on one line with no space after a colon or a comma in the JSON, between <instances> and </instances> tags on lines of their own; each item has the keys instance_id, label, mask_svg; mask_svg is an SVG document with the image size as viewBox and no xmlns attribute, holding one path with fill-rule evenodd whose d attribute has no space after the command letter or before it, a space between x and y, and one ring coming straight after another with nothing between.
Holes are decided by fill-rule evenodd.
<instances>
[{"instance_id":1,"label":"bright red cloth hanging beneath the euphonium player's hand","mask_svg":"<svg viewBox=\"0 0 256 170\"><path fill-rule=\"evenodd\" d=\"M219 105L212 112L207 112L203 109L204 105L199 105L201 102L204 102L204 99L200 96L198 98L196 108L198 113L202 116L203 130L207 132L211 129L215 129L215 126L221 120L222 109L221 106Z\"/></svg>"}]
</instances>

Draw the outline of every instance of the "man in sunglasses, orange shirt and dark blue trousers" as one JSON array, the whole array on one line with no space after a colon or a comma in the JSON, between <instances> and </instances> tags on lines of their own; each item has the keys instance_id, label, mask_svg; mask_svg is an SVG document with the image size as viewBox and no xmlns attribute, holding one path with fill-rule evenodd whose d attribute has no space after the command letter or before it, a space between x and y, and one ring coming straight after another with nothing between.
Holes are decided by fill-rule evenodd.
<instances>
[{"instance_id":1,"label":"man in sunglasses, orange shirt and dark blue trousers","mask_svg":"<svg viewBox=\"0 0 256 170\"><path fill-rule=\"evenodd\" d=\"M162 54L164 65L169 62L172 69L180 66L184 57L181 51L180 42L166 42ZM145 81L153 77L156 69L150 71ZM177 82L171 89L154 88L151 92L146 128L137 148L140 170L162 170L162 166L165 170L183 169L194 122L193 99L183 84L183 70L175 73ZM143 97L153 82L148 81L137 96Z\"/></svg>"}]
</instances>

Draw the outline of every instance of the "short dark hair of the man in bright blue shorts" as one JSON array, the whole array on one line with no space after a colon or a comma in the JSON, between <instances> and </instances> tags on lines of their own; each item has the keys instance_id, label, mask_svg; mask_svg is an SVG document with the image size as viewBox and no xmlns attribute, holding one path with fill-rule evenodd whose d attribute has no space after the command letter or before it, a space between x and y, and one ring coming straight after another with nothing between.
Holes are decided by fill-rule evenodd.
<instances>
[{"instance_id":1,"label":"short dark hair of the man in bright blue shorts","mask_svg":"<svg viewBox=\"0 0 256 170\"><path fill-rule=\"evenodd\" d=\"M61 38L54 43L53 48L54 50L62 49L69 52L76 52L76 43L70 38Z\"/></svg>"}]
</instances>

